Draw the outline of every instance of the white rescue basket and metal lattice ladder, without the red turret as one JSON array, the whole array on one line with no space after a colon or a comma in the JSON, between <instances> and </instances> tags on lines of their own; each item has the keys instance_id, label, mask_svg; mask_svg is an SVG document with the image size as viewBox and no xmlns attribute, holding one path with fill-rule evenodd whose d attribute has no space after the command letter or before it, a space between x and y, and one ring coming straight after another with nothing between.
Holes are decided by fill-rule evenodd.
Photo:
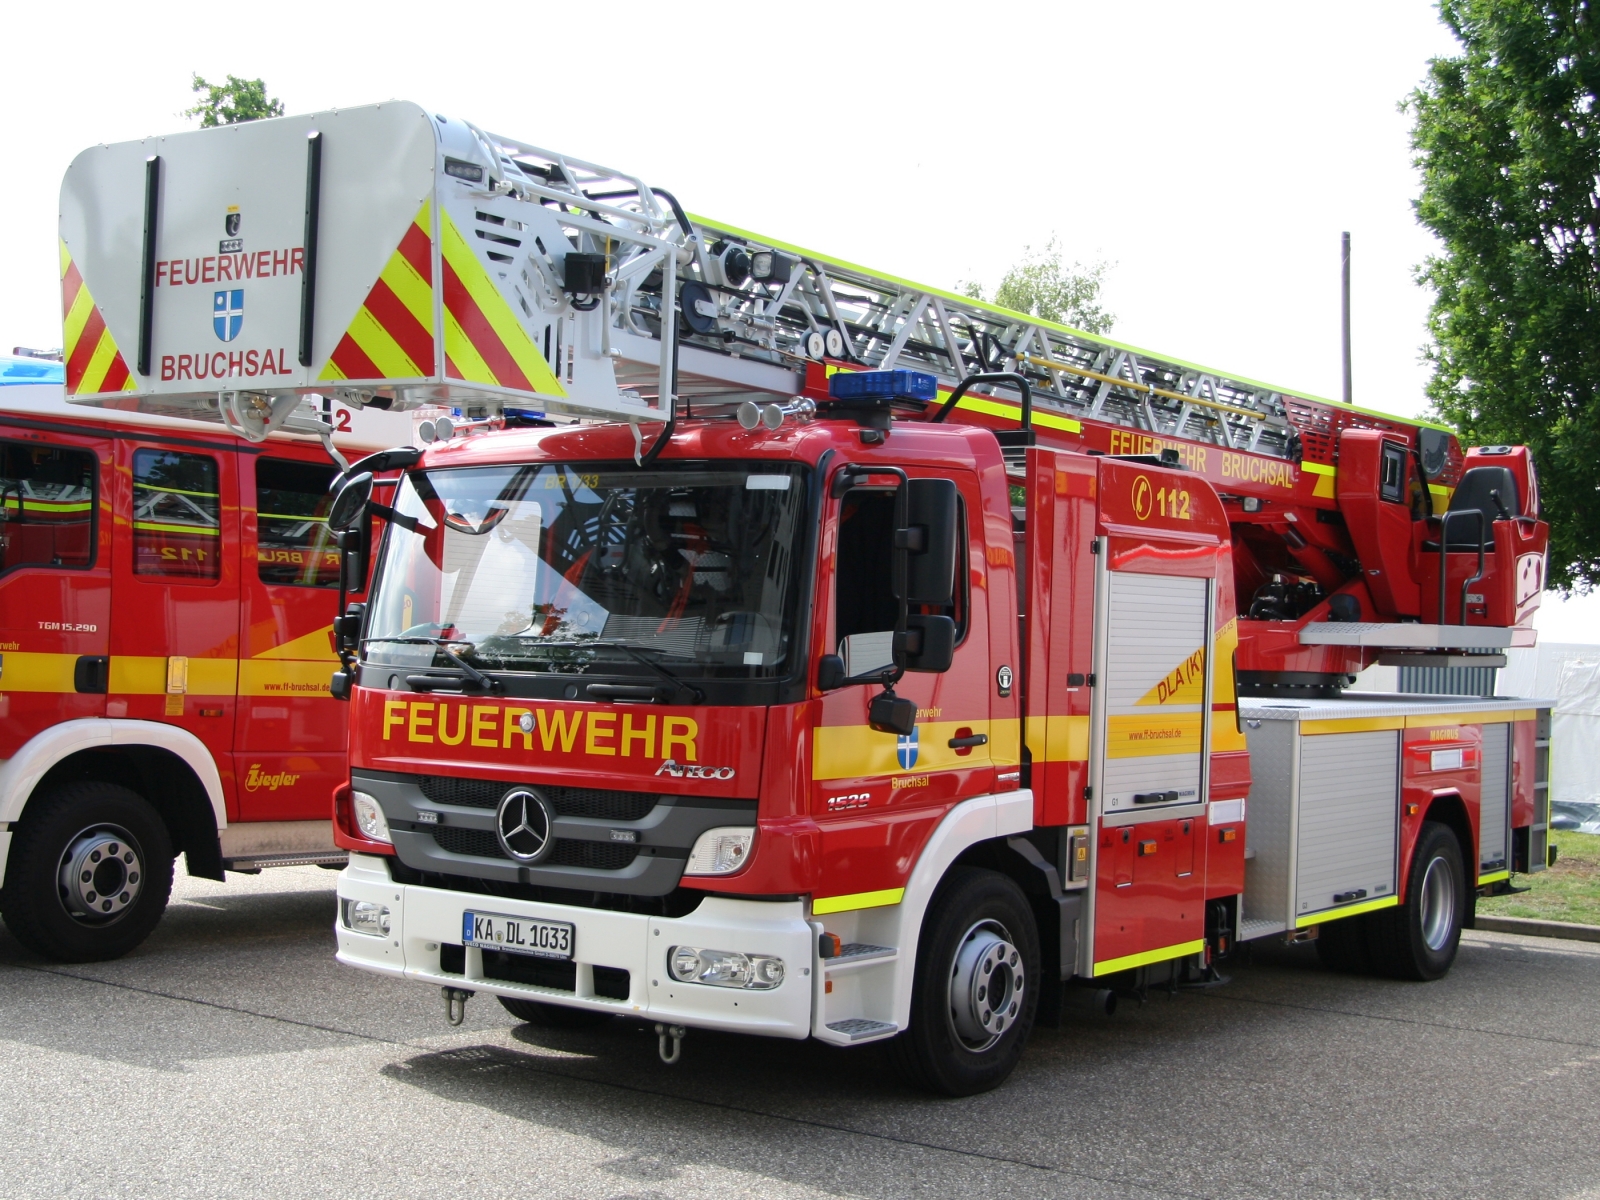
<instances>
[{"instance_id":1,"label":"white rescue basket and metal lattice ladder, without the red turret","mask_svg":"<svg viewBox=\"0 0 1600 1200\"><path fill-rule=\"evenodd\" d=\"M650 421L675 392L715 413L794 397L824 362L947 389L1021 373L1045 437L1090 422L1331 462L1342 427L1421 429L690 218L626 171L411 104L96 147L61 235L91 298L67 312L69 394L246 435L315 422L302 398L325 394ZM984 394L1011 403L968 411L1018 400Z\"/></svg>"}]
</instances>

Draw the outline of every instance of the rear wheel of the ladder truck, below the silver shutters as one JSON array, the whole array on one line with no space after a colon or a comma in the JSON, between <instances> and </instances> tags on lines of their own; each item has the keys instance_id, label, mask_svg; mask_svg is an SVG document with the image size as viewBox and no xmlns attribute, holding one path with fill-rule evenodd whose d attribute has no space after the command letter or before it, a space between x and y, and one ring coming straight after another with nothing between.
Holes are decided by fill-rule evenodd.
<instances>
[{"instance_id":1,"label":"rear wheel of the ladder truck, below the silver shutters","mask_svg":"<svg viewBox=\"0 0 1600 1200\"><path fill-rule=\"evenodd\" d=\"M1438 979L1456 962L1467 915L1467 872L1448 826L1427 821L1411 853L1405 904L1368 917L1373 970L1392 979Z\"/></svg>"}]
</instances>

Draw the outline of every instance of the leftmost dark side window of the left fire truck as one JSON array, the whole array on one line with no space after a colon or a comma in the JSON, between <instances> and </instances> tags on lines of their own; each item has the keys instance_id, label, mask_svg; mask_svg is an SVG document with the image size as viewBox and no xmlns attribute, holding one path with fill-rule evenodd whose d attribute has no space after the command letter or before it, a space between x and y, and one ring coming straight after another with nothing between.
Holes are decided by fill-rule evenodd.
<instances>
[{"instance_id":1,"label":"leftmost dark side window of the left fire truck","mask_svg":"<svg viewBox=\"0 0 1600 1200\"><path fill-rule=\"evenodd\" d=\"M94 454L0 442L0 571L94 565Z\"/></svg>"}]
</instances>

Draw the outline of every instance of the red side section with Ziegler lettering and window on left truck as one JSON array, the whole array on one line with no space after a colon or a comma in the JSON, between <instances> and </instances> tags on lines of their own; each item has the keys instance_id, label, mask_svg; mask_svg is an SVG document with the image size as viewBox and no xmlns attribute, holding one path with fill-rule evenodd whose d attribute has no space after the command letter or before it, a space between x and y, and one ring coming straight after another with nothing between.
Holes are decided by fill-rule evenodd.
<instances>
[{"instance_id":1,"label":"red side section with Ziegler lettering and window on left truck","mask_svg":"<svg viewBox=\"0 0 1600 1200\"><path fill-rule=\"evenodd\" d=\"M339 555L328 534L334 467L269 443L243 461L238 614L242 821L328 821L344 779L349 706L328 694Z\"/></svg>"}]
</instances>

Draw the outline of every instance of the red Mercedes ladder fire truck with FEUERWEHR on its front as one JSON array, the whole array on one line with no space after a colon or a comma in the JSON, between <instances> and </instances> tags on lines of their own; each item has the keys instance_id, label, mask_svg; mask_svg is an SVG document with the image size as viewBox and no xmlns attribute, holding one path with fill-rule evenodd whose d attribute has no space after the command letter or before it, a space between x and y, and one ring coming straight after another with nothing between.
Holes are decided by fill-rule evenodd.
<instances>
[{"instance_id":1,"label":"red Mercedes ladder fire truck with FEUERWEHR on its front","mask_svg":"<svg viewBox=\"0 0 1600 1200\"><path fill-rule=\"evenodd\" d=\"M669 1059L688 1027L883 1040L965 1094L1035 1021L1243 939L1437 978L1474 898L1544 866L1538 701L1344 693L1531 643L1525 448L691 218L410 104L101 147L62 237L86 278L144 264L130 328L198 326L162 280L229 280L218 312L245 270L272 286L210 253L227 205L306 230L261 310L310 379L171 341L80 398L458 410L328 514L373 573L336 622L339 958L451 1019L477 992L642 1018Z\"/></svg>"}]
</instances>

